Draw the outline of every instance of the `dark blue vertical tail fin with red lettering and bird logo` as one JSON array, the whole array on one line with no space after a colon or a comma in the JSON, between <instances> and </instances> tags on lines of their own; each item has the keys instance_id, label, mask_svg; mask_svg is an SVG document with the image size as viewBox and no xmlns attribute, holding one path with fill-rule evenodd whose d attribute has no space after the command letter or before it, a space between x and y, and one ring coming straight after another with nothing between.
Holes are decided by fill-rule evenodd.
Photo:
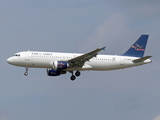
<instances>
[{"instance_id":1,"label":"dark blue vertical tail fin with red lettering and bird logo","mask_svg":"<svg viewBox=\"0 0 160 120\"><path fill-rule=\"evenodd\" d=\"M122 56L143 57L149 35L141 35L140 38Z\"/></svg>"}]
</instances>

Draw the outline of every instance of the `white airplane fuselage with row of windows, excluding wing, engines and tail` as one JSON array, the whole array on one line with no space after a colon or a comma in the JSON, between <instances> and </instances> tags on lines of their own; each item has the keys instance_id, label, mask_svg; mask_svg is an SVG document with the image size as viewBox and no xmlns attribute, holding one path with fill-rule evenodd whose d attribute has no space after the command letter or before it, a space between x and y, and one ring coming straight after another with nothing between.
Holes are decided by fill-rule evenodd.
<instances>
[{"instance_id":1,"label":"white airplane fuselage with row of windows, excluding wing, engines and tail","mask_svg":"<svg viewBox=\"0 0 160 120\"><path fill-rule=\"evenodd\" d=\"M21 67L34 68L53 68L54 61L67 61L82 54L78 53L58 53L58 52L39 52L39 51L25 51L16 53L14 56L8 58L8 63ZM117 55L97 55L96 57L85 62L82 68L68 68L65 71L74 70L115 70L123 69L138 65L150 63L147 59L143 62L134 63L133 60L138 57L117 56Z\"/></svg>"}]
</instances>

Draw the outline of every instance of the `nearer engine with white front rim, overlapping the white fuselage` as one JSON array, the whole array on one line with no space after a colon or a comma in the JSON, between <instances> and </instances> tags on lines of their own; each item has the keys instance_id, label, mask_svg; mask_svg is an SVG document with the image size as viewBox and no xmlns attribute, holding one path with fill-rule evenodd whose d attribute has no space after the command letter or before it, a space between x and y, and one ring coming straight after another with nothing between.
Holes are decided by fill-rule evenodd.
<instances>
[{"instance_id":1,"label":"nearer engine with white front rim, overlapping the white fuselage","mask_svg":"<svg viewBox=\"0 0 160 120\"><path fill-rule=\"evenodd\" d=\"M68 62L64 61L54 61L53 62L53 69L54 70L63 70L68 68Z\"/></svg>"}]
</instances>

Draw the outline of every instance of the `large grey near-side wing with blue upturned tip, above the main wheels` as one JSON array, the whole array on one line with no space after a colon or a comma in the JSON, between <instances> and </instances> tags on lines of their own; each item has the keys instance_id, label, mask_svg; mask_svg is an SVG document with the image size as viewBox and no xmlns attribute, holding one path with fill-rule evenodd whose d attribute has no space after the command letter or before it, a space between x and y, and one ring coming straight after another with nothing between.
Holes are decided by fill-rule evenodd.
<instances>
[{"instance_id":1,"label":"large grey near-side wing with blue upturned tip, above the main wheels","mask_svg":"<svg viewBox=\"0 0 160 120\"><path fill-rule=\"evenodd\" d=\"M93 57L96 57L98 55L98 52L100 52L101 50L105 50L105 48L106 47L97 48L89 53L68 60L68 63L72 67L82 67L86 61L89 61Z\"/></svg>"}]
</instances>

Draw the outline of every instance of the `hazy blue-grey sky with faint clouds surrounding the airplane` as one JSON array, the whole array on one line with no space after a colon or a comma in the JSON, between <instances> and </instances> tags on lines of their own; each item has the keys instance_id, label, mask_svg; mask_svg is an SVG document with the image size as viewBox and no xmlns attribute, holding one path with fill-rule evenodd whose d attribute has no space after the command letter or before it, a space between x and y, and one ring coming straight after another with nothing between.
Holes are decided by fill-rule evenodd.
<instances>
[{"instance_id":1,"label":"hazy blue-grey sky with faint clouds surrounding the airplane","mask_svg":"<svg viewBox=\"0 0 160 120\"><path fill-rule=\"evenodd\" d=\"M0 120L160 120L159 0L1 0ZM11 66L25 50L123 54L149 34L152 63L48 77Z\"/></svg>"}]
</instances>

